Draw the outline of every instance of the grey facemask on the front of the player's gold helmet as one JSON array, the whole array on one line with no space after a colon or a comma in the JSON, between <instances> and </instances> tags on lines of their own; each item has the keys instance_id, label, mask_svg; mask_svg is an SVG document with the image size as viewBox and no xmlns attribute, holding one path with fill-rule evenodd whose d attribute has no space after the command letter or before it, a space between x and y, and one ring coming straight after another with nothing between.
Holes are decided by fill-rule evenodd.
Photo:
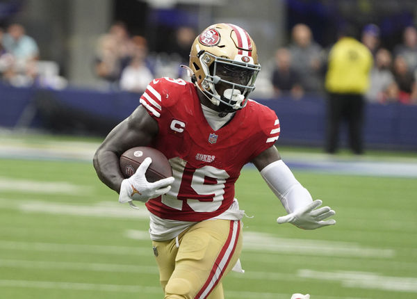
<instances>
[{"instance_id":1,"label":"grey facemask on the front of the player's gold helmet","mask_svg":"<svg viewBox=\"0 0 417 299\"><path fill-rule=\"evenodd\" d=\"M223 111L232 112L246 106L247 97L255 89L256 76L261 65L240 63L236 60L204 52L199 57L205 78L202 91Z\"/></svg>"}]
</instances>

